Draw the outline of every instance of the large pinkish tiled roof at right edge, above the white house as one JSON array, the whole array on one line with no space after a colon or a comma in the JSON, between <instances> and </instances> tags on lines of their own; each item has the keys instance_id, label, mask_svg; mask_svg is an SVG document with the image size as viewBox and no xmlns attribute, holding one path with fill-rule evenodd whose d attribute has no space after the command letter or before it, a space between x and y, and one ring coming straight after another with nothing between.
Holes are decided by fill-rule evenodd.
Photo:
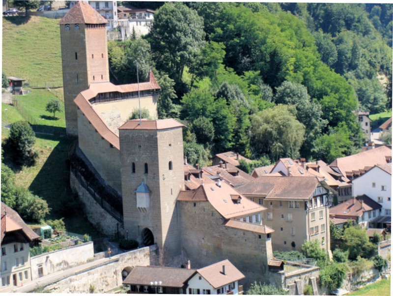
<instances>
[{"instance_id":1,"label":"large pinkish tiled roof at right edge, above the white house","mask_svg":"<svg viewBox=\"0 0 393 296\"><path fill-rule=\"evenodd\" d=\"M335 159L329 166L346 177L346 172L360 171L376 164L386 164L386 156L392 156L392 148L380 146L354 155Z\"/></svg>"}]
</instances>

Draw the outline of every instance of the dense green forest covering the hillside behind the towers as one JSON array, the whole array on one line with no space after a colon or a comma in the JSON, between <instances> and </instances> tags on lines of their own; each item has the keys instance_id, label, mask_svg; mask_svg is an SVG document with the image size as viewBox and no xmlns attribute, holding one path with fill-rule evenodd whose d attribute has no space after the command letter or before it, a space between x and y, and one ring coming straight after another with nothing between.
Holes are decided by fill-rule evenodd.
<instances>
[{"instance_id":1,"label":"dense green forest covering the hillside behind the towers","mask_svg":"<svg viewBox=\"0 0 393 296\"><path fill-rule=\"evenodd\" d=\"M153 70L192 164L230 149L331 162L365 144L354 110L392 108L393 4L133 5L157 10L148 35L109 43L112 82Z\"/></svg>"}]
</instances>

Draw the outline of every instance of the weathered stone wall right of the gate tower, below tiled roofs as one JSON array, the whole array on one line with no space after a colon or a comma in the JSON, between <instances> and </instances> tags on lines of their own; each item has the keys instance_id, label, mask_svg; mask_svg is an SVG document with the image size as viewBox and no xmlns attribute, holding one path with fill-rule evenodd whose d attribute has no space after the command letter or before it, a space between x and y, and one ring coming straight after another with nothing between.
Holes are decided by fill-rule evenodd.
<instances>
[{"instance_id":1,"label":"weathered stone wall right of the gate tower, below tiled roofs","mask_svg":"<svg viewBox=\"0 0 393 296\"><path fill-rule=\"evenodd\" d=\"M268 282L271 240L266 235L225 227L224 218L209 202L178 202L182 255L192 268L228 259L251 283Z\"/></svg>"}]
</instances>

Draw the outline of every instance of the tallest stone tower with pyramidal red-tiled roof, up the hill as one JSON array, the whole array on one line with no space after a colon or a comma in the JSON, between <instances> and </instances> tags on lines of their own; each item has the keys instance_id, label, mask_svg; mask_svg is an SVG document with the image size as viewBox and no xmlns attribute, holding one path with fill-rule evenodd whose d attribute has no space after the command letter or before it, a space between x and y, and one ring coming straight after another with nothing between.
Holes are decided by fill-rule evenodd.
<instances>
[{"instance_id":1,"label":"tallest stone tower with pyramidal red-tiled roof, up the hill","mask_svg":"<svg viewBox=\"0 0 393 296\"><path fill-rule=\"evenodd\" d=\"M59 25L66 129L68 135L77 135L73 100L90 83L109 81L107 20L87 2L78 1Z\"/></svg>"}]
</instances>

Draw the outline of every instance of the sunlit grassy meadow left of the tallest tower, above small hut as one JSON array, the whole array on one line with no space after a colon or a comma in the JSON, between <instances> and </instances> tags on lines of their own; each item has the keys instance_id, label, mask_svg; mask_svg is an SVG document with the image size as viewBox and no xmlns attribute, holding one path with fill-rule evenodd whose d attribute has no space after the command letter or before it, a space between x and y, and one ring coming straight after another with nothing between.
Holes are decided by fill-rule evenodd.
<instances>
[{"instance_id":1,"label":"sunlit grassy meadow left of the tallest tower, above small hut","mask_svg":"<svg viewBox=\"0 0 393 296\"><path fill-rule=\"evenodd\" d=\"M24 78L33 87L63 85L58 22L37 16L3 18L2 69L7 76Z\"/></svg>"}]
</instances>

